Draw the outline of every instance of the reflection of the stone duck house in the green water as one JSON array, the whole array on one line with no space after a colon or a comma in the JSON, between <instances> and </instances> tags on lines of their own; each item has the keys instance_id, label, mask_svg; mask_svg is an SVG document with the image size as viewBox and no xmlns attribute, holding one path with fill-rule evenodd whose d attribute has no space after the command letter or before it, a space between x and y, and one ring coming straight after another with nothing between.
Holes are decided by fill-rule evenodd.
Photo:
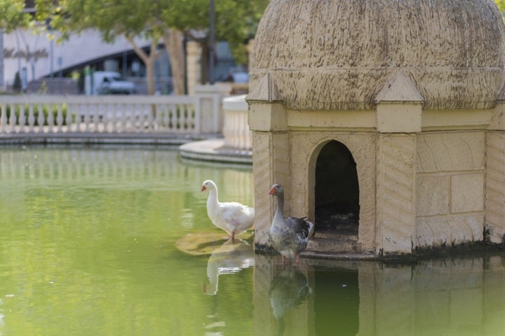
<instances>
[{"instance_id":1,"label":"reflection of the stone duck house in the green water","mask_svg":"<svg viewBox=\"0 0 505 336\"><path fill-rule=\"evenodd\" d=\"M504 261L500 255L415 265L302 259L312 293L286 311L278 335L501 335ZM256 256L255 335L279 330L267 293L281 272L278 259Z\"/></svg>"}]
</instances>

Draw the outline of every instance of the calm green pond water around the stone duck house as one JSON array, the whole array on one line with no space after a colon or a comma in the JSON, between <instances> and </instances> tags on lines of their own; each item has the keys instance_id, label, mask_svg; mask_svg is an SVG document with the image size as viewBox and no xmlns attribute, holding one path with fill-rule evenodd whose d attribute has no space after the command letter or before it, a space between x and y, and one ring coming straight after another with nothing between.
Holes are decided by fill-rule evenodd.
<instances>
[{"instance_id":1,"label":"calm green pond water around the stone duck house","mask_svg":"<svg viewBox=\"0 0 505 336\"><path fill-rule=\"evenodd\" d=\"M250 167L170 148L0 147L0 335L505 335L504 253L282 267L206 179L253 204Z\"/></svg>"}]
</instances>

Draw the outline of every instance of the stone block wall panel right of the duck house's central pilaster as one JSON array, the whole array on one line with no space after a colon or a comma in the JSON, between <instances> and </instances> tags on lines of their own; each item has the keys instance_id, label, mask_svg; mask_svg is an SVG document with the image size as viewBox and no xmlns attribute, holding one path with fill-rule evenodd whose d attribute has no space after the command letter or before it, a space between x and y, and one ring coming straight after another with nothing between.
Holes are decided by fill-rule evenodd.
<instances>
[{"instance_id":1,"label":"stone block wall panel right of the duck house's central pilaster","mask_svg":"<svg viewBox=\"0 0 505 336\"><path fill-rule=\"evenodd\" d=\"M483 240L483 131L417 136L415 246Z\"/></svg>"}]
</instances>

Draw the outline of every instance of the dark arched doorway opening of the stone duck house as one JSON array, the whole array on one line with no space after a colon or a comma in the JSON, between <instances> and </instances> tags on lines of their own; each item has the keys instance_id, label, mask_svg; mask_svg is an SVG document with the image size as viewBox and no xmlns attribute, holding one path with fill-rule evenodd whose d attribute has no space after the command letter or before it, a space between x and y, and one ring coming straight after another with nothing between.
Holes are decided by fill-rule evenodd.
<instances>
[{"instance_id":1,"label":"dark arched doorway opening of the stone duck house","mask_svg":"<svg viewBox=\"0 0 505 336\"><path fill-rule=\"evenodd\" d=\"M330 141L316 162L315 232L358 235L359 186L356 162L339 141Z\"/></svg>"}]
</instances>

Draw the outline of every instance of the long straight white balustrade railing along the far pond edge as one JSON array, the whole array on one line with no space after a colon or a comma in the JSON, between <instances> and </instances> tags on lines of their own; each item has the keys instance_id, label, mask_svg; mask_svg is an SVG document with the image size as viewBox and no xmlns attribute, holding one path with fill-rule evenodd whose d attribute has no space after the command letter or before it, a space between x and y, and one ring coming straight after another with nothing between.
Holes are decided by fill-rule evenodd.
<instances>
[{"instance_id":1,"label":"long straight white balustrade railing along the far pond edge","mask_svg":"<svg viewBox=\"0 0 505 336\"><path fill-rule=\"evenodd\" d=\"M0 136L8 134L220 133L219 94L191 96L0 96ZM204 102L216 102L205 104ZM201 111L201 106L217 106ZM202 122L203 121L203 122Z\"/></svg>"}]
</instances>

